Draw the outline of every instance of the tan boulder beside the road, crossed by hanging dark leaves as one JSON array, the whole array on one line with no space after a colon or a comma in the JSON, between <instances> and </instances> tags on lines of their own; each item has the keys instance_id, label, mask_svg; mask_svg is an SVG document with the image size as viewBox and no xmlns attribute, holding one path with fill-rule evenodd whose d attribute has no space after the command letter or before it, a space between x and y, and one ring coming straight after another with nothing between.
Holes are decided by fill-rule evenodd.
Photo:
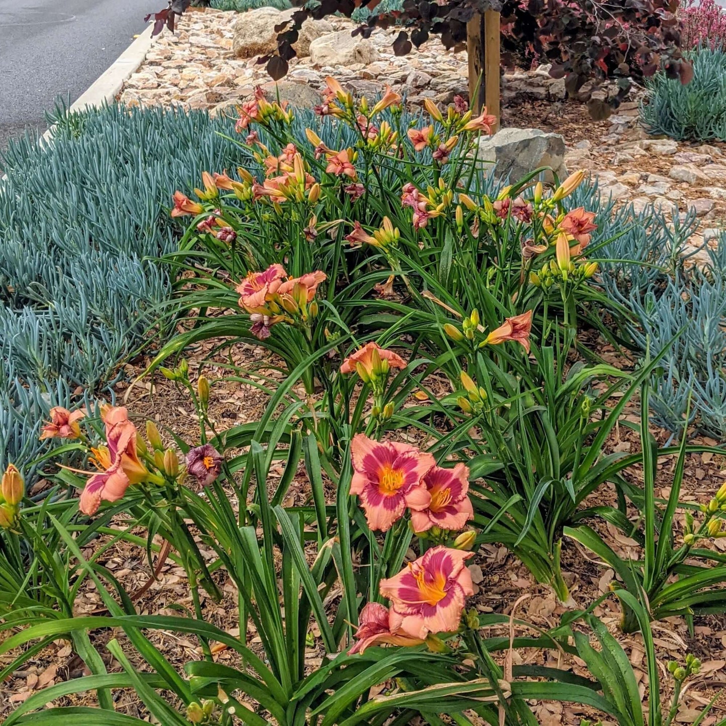
<instances>
[{"instance_id":1,"label":"tan boulder beside the road, crossed by hanging dark leaves","mask_svg":"<svg viewBox=\"0 0 726 726\"><path fill-rule=\"evenodd\" d=\"M277 49L276 25L290 20L295 8L277 10L274 7L259 7L242 13L234 23L232 36L232 52L238 58L251 58L256 55L272 53ZM309 18L303 23L298 40L293 48L299 58L310 54L310 44L315 38L333 32L333 25L327 20Z\"/></svg>"}]
</instances>

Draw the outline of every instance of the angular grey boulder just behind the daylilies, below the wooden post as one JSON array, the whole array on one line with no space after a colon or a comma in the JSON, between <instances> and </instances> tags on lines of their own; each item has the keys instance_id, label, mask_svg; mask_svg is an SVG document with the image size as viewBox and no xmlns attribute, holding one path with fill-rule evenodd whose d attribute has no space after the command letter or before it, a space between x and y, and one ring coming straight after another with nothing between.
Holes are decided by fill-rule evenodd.
<instances>
[{"instance_id":1,"label":"angular grey boulder just behind the daylilies, below the wooden post","mask_svg":"<svg viewBox=\"0 0 726 726\"><path fill-rule=\"evenodd\" d=\"M479 140L478 163L492 168L497 179L519 181L540 166L549 166L560 181L567 176L565 167L565 139L560 134L549 134L541 129L502 129L494 136ZM544 173L545 181L552 181L552 171Z\"/></svg>"}]
</instances>

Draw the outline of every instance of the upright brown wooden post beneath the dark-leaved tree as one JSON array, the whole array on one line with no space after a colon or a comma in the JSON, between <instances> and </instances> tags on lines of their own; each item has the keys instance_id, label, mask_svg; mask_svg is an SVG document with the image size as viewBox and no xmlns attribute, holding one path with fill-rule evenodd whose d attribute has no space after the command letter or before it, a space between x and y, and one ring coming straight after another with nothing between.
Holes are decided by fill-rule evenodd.
<instances>
[{"instance_id":1,"label":"upright brown wooden post beneath the dark-leaved tree","mask_svg":"<svg viewBox=\"0 0 726 726\"><path fill-rule=\"evenodd\" d=\"M499 13L486 10L475 15L466 28L469 55L469 101L476 114L486 106L487 113L497 117L499 127Z\"/></svg>"}]
</instances>

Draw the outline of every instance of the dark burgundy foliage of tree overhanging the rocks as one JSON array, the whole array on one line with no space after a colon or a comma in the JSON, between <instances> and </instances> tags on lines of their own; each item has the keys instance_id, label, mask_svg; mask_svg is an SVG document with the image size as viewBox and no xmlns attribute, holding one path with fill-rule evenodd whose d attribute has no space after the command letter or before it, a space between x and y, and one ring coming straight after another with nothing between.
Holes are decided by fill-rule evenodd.
<instances>
[{"instance_id":1,"label":"dark burgundy foliage of tree overhanging the rocks","mask_svg":"<svg viewBox=\"0 0 726 726\"><path fill-rule=\"evenodd\" d=\"M292 1L302 6L306 0ZM407 54L432 35L439 36L447 49L461 49L466 44L468 21L492 9L502 17L505 62L525 67L535 60L551 63L550 73L565 78L570 95L579 93L587 81L616 80L616 94L606 99L595 94L588 104L592 115L599 118L619 105L631 81L641 81L659 69L683 83L692 76L679 48L678 0L404 0L401 11L388 15L375 14L378 3L321 0L316 7L300 7L290 22L276 28L280 33L277 53L260 61L267 63L273 78L280 78L287 73L287 61L295 54L292 44L308 17L319 20L335 12L350 17L361 5L372 15L354 35L367 37L376 27L397 23L401 31L393 43L396 55ZM189 0L170 0L162 13L179 12L174 7L178 4L189 4Z\"/></svg>"}]
</instances>

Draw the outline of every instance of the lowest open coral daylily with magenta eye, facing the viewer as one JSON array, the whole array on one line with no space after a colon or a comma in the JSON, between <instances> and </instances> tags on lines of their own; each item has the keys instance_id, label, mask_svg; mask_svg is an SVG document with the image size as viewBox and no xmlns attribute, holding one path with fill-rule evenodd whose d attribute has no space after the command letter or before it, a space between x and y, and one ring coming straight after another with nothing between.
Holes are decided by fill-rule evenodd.
<instances>
[{"instance_id":1,"label":"lowest open coral daylily with magenta eye, facing the viewer","mask_svg":"<svg viewBox=\"0 0 726 726\"><path fill-rule=\"evenodd\" d=\"M432 547L396 576L380 581L380 594L391 600L391 629L425 638L459 627L465 599L474 594L465 560L473 552Z\"/></svg>"}]
</instances>

